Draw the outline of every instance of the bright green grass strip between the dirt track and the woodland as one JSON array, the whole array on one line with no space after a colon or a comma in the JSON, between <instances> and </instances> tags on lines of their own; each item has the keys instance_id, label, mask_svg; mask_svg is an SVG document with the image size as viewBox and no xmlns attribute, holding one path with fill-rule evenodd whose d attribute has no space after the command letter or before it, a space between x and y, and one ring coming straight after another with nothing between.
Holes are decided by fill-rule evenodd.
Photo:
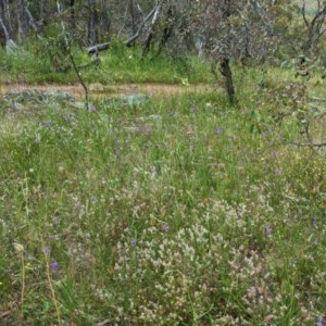
<instances>
[{"instance_id":1,"label":"bright green grass strip between the dirt track and the woodland","mask_svg":"<svg viewBox=\"0 0 326 326\"><path fill-rule=\"evenodd\" d=\"M41 48L16 53L5 53L0 49L0 82L1 83L59 83L76 84L79 80L73 70L58 72L51 64L50 58L54 54ZM49 51L49 53L48 53ZM48 53L48 54L47 54ZM139 48L126 48L113 42L108 51L100 52L99 66L89 65L82 68L82 77L87 83L121 84L121 83L165 83L165 84L198 84L213 83L209 65L197 58L179 58L148 55L141 59ZM65 58L65 57L64 57ZM91 63L91 57L79 48L74 49L77 65ZM71 65L68 59L64 65ZM37 67L37 70L36 70Z\"/></svg>"}]
</instances>

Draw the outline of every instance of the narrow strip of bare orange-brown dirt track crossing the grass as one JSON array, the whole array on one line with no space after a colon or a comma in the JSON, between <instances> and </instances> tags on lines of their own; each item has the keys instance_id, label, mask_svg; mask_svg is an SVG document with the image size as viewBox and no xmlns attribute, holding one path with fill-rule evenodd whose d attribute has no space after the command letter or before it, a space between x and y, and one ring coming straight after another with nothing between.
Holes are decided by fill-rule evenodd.
<instances>
[{"instance_id":1,"label":"narrow strip of bare orange-brown dirt track crossing the grass","mask_svg":"<svg viewBox=\"0 0 326 326\"><path fill-rule=\"evenodd\" d=\"M167 84L120 84L120 85L101 85L90 84L88 85L89 95L95 97L116 97L123 95L133 95L137 92L147 93L149 96L159 95L174 95L187 91L206 91L213 89L211 85L167 85ZM71 93L75 98L83 98L85 92L82 85L60 85L60 84L48 84L48 85L29 85L29 84L11 84L0 86L0 95L4 95L8 91L20 91L25 89L58 89Z\"/></svg>"}]
</instances>

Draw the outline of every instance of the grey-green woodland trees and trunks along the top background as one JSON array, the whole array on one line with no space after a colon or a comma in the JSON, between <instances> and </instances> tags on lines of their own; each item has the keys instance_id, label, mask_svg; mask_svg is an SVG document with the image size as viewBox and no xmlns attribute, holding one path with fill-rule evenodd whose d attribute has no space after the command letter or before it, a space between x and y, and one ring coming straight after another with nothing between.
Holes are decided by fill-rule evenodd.
<instances>
[{"instance_id":1,"label":"grey-green woodland trees and trunks along the top background","mask_svg":"<svg viewBox=\"0 0 326 326\"><path fill-rule=\"evenodd\" d=\"M322 0L1 0L0 40L4 48L50 41L53 50L68 34L80 48L106 45L93 52L118 39L140 46L142 55L197 54L222 73L234 101L230 61L279 64L301 53L323 61L325 15Z\"/></svg>"}]
</instances>

